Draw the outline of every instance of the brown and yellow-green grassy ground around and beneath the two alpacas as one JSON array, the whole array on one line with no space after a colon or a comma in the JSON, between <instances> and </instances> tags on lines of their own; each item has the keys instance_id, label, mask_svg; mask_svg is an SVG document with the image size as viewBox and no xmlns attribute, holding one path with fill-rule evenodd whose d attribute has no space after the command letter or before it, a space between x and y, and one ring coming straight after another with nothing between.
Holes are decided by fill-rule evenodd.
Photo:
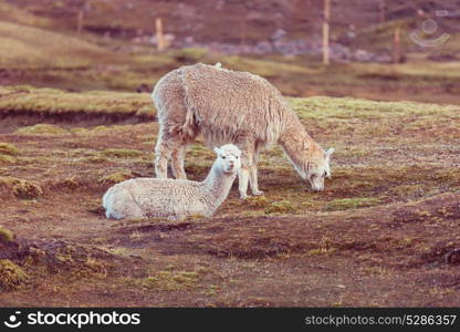
<instances>
[{"instance_id":1,"label":"brown and yellow-green grassy ground around and beneath the two alpacas","mask_svg":"<svg viewBox=\"0 0 460 332\"><path fill-rule=\"evenodd\" d=\"M147 95L1 93L1 112L12 110L0 121L2 305L460 304L458 106L290 98L336 147L325 191L271 147L263 197L242 203L234 186L210 219L113 221L105 190L153 174L158 125L138 114ZM118 106L137 123L98 117ZM212 160L192 146L189 178Z\"/></svg>"}]
</instances>

